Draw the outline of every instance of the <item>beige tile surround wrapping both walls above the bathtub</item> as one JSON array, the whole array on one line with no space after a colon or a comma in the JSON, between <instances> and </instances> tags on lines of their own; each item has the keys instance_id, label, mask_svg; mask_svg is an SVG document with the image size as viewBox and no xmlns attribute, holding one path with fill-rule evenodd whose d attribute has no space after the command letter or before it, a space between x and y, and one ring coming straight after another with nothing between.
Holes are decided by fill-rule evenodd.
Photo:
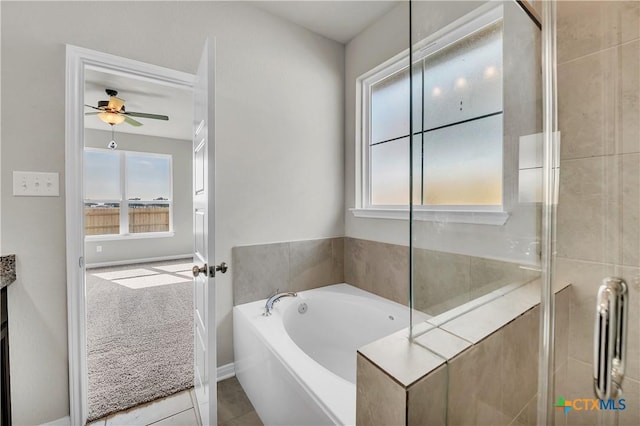
<instances>
[{"instance_id":1,"label":"beige tile surround wrapping both walls above the bathtub","mask_svg":"<svg viewBox=\"0 0 640 426\"><path fill-rule=\"evenodd\" d=\"M356 238L330 238L233 248L234 304L276 289L302 291L346 282L408 305L409 248ZM537 273L518 264L415 249L415 306L438 315Z\"/></svg>"}]
</instances>

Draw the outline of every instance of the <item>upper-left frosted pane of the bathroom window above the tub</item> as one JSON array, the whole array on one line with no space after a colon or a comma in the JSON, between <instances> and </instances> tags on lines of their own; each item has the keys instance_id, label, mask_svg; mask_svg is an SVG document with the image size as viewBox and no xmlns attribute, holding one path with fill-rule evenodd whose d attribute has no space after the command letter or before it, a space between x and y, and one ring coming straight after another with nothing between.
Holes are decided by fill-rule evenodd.
<instances>
[{"instance_id":1,"label":"upper-left frosted pane of the bathroom window above the tub","mask_svg":"<svg viewBox=\"0 0 640 426\"><path fill-rule=\"evenodd\" d=\"M422 64L414 66L414 131L421 130ZM409 69L371 86L371 143L409 135Z\"/></svg>"}]
</instances>

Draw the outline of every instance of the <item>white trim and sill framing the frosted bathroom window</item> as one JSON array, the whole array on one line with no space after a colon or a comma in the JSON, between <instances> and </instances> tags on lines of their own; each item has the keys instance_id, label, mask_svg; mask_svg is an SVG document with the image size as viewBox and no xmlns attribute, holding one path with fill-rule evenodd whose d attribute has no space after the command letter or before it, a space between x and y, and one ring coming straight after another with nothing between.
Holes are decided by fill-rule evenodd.
<instances>
[{"instance_id":1,"label":"white trim and sill framing the frosted bathroom window","mask_svg":"<svg viewBox=\"0 0 640 426\"><path fill-rule=\"evenodd\" d=\"M414 63L423 60L447 46L467 37L487 25L503 19L504 8L487 3L458 21L455 21L431 36L417 42L414 50ZM370 219L409 220L409 206L381 206L370 204L371 185L369 183L369 146L370 139L370 102L371 87L389 75L409 66L409 49L390 58L356 80L356 165L355 165L355 208L349 209L354 217ZM503 142L504 143L504 142ZM503 158L504 161L504 158ZM413 206L413 219L450 223L472 223L484 225L504 225L509 219L505 206L510 204L504 192L503 163L503 202L495 206Z\"/></svg>"}]
</instances>

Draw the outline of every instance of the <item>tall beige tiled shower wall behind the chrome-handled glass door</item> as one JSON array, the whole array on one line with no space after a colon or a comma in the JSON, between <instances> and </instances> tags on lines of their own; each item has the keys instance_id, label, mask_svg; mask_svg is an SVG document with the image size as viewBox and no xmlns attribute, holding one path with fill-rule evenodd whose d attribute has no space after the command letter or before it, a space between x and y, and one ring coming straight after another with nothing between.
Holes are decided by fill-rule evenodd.
<instances>
[{"instance_id":1,"label":"tall beige tiled shower wall behind the chrome-handled glass door","mask_svg":"<svg viewBox=\"0 0 640 426\"><path fill-rule=\"evenodd\" d=\"M633 401L620 424L640 424L640 2L558 2L558 107L557 279L573 290L556 397L593 397L596 292L620 276L632 305L623 388ZM595 424L595 415L561 420Z\"/></svg>"}]
</instances>

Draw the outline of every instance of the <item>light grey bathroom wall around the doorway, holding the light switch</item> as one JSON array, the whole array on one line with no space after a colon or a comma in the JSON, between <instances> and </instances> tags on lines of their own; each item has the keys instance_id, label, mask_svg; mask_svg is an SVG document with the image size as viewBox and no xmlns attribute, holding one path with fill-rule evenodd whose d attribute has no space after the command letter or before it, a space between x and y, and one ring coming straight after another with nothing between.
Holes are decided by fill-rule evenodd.
<instances>
[{"instance_id":1,"label":"light grey bathroom wall around the doorway, holding the light switch","mask_svg":"<svg viewBox=\"0 0 640 426\"><path fill-rule=\"evenodd\" d=\"M344 234L344 47L237 2L2 2L2 245L14 424L69 413L64 188L14 198L12 170L64 182L65 43L194 72L217 37L217 261L231 247ZM230 273L218 362L233 360Z\"/></svg>"}]
</instances>

